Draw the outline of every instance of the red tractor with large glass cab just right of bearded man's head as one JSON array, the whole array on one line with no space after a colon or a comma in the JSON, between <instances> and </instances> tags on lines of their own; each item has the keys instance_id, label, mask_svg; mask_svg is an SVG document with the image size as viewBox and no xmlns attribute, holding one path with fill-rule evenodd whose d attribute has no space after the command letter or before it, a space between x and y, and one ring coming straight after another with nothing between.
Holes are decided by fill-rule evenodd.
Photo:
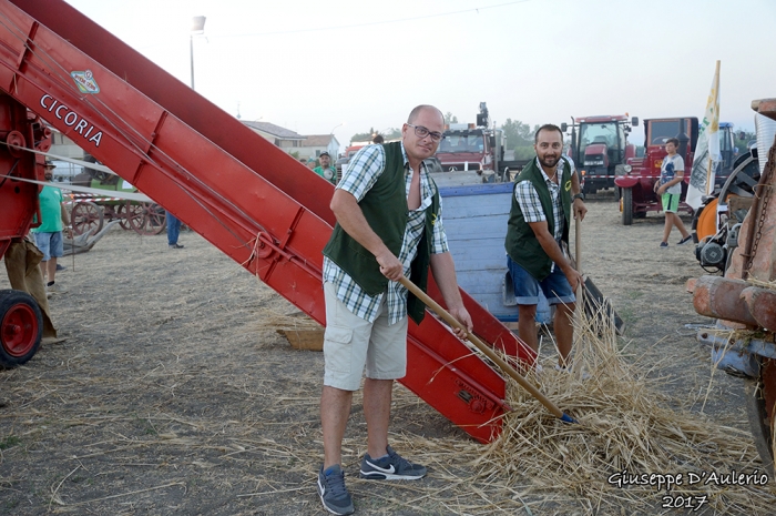
<instances>
[{"instance_id":1,"label":"red tractor with large glass cab just right of bearded man's head","mask_svg":"<svg viewBox=\"0 0 776 516\"><path fill-rule=\"evenodd\" d=\"M580 171L582 191L588 194L614 188L614 178L626 173L627 161L636 155L627 135L631 127L639 125L639 119L615 114L571 120L569 155ZM561 131L566 129L569 124L562 123Z\"/></svg>"}]
</instances>

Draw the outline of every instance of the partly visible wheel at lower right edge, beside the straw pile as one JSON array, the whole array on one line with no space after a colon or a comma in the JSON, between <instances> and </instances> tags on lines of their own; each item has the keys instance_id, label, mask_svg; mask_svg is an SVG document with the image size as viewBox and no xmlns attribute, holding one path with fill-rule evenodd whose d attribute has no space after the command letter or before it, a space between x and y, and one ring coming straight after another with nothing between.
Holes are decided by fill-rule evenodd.
<instances>
[{"instance_id":1,"label":"partly visible wheel at lower right edge, beside the straw pile","mask_svg":"<svg viewBox=\"0 0 776 516\"><path fill-rule=\"evenodd\" d=\"M759 378L746 382L746 413L757 453L768 474L774 474L773 416L776 402L776 362L760 363Z\"/></svg>"}]
</instances>

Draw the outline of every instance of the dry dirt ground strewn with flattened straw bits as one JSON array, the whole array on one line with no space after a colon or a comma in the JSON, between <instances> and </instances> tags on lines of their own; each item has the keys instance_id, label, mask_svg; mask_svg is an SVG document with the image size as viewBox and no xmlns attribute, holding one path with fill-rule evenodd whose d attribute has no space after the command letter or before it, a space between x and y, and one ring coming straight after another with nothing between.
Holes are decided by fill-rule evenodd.
<instances>
[{"instance_id":1,"label":"dry dirt ground strewn with flattened straw bits","mask_svg":"<svg viewBox=\"0 0 776 516\"><path fill-rule=\"evenodd\" d=\"M707 398L705 413L748 429L742 381L717 372L709 383L708 351L687 326L709 323L685 292L703 274L693 245L677 247L674 231L658 249L662 214L623 226L611 196L588 205L582 265L624 318L623 343L666 393L695 412ZM323 355L264 324L294 311L278 294L195 233L181 243L169 250L164 235L114 227L74 263L62 260L67 292L50 302L67 340L0 371L0 514L325 514L315 489ZM456 508L476 504L478 486L451 493L445 477L467 474L472 457L429 457L423 443L477 446L400 386L391 424L397 449L431 472L401 485L349 475L358 514L515 514L498 500ZM356 472L359 396L345 445L345 469ZM585 513L563 495L523 514Z\"/></svg>"}]
</instances>

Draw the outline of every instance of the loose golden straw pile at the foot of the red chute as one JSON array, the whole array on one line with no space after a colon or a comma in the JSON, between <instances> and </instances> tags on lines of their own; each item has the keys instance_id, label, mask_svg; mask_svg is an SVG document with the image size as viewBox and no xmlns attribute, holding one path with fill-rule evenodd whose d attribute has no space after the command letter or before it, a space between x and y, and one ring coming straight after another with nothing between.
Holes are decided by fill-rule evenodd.
<instances>
[{"instance_id":1,"label":"loose golden straw pile at the foot of the red chute","mask_svg":"<svg viewBox=\"0 0 776 516\"><path fill-rule=\"evenodd\" d=\"M658 394L655 381L645 377L645 365L625 361L613 328L598 326L595 317L582 320L575 330L573 371L558 372L548 362L532 375L580 424L561 423L510 381L513 412L503 419L501 437L474 461L480 482L509 489L528 478L523 496L576 498L591 512L624 504L640 514L655 514L668 504L773 514L776 496L764 485L752 436ZM733 473L736 479L741 473L755 476L732 485ZM657 484L661 478L678 485L667 490Z\"/></svg>"}]
</instances>

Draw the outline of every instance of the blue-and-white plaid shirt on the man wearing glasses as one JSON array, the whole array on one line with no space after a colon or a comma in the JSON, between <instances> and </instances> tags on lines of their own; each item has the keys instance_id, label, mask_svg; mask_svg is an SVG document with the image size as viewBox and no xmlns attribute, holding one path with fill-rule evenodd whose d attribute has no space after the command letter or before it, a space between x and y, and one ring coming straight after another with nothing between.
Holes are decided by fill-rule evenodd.
<instances>
[{"instance_id":1,"label":"blue-and-white plaid shirt on the man wearing glasses","mask_svg":"<svg viewBox=\"0 0 776 516\"><path fill-rule=\"evenodd\" d=\"M409 196L409 186L412 180L412 169L409 166L407 153L404 144L401 155L405 161L405 188ZM356 201L360 202L366 193L371 189L386 166L386 152L382 145L367 145L353 158L339 181L337 189L345 190L353 194ZM418 244L426 226L426 210L431 205L435 189L428 176L426 164L420 165L420 208L412 210L408 214L407 229L405 230L401 251L398 259L405 266L405 276L409 277L409 266L418 253ZM442 206L439 200L439 213L433 224L433 239L431 241L431 253L439 254L448 252L447 236L442 225ZM334 284L337 291L337 299L341 301L350 312L359 317L374 322L382 302L382 296L388 295L388 317L389 324L394 324L407 316L407 289L401 283L388 282L388 290L376 296L367 295L358 283L350 275L343 271L336 263L324 256L324 281Z\"/></svg>"}]
</instances>

